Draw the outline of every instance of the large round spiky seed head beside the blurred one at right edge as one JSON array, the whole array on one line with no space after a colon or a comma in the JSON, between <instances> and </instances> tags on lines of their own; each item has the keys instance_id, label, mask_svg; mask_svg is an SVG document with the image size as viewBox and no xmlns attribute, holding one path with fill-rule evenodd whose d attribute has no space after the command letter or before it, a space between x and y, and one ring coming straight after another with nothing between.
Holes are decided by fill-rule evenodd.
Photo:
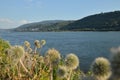
<instances>
[{"instance_id":1,"label":"large round spiky seed head beside the blurred one at right edge","mask_svg":"<svg viewBox=\"0 0 120 80\"><path fill-rule=\"evenodd\" d=\"M91 70L93 74L102 80L106 80L111 75L110 62L103 57L96 58L92 64Z\"/></svg>"}]
</instances>

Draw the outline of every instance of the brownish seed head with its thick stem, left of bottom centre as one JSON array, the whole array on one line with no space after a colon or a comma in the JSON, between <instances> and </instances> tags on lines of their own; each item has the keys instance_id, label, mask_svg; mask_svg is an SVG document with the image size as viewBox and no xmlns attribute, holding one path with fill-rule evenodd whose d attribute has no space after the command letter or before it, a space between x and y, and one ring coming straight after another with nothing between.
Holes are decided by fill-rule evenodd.
<instances>
[{"instance_id":1,"label":"brownish seed head with its thick stem, left of bottom centre","mask_svg":"<svg viewBox=\"0 0 120 80\"><path fill-rule=\"evenodd\" d=\"M49 49L46 53L47 58L49 59L49 70L50 70L50 77L49 80L54 80L53 79L53 70L55 65L57 65L61 59L59 51L56 49L52 48Z\"/></svg>"}]
</instances>

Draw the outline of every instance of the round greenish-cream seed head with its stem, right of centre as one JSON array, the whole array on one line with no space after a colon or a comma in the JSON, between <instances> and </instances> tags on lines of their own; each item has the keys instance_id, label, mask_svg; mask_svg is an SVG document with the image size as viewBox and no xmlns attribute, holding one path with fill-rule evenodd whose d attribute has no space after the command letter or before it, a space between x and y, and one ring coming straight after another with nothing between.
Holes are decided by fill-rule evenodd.
<instances>
[{"instance_id":1,"label":"round greenish-cream seed head with its stem, right of centre","mask_svg":"<svg viewBox=\"0 0 120 80\"><path fill-rule=\"evenodd\" d=\"M73 53L68 54L65 58L65 66L68 69L67 80L71 80L73 70L79 66L79 58Z\"/></svg>"}]
</instances>

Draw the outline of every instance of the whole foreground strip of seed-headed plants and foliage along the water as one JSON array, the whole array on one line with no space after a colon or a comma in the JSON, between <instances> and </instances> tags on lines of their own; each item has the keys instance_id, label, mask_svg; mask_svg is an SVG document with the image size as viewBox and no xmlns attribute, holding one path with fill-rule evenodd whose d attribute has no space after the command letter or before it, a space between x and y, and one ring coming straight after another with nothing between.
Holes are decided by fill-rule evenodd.
<instances>
[{"instance_id":1,"label":"whole foreground strip of seed-headed plants and foliage along the water","mask_svg":"<svg viewBox=\"0 0 120 80\"><path fill-rule=\"evenodd\" d=\"M0 80L120 80L120 47L111 48L111 57L96 58L86 74L74 53L65 58L54 48L40 55L45 40L35 40L34 49L25 41L10 45L0 39Z\"/></svg>"}]
</instances>

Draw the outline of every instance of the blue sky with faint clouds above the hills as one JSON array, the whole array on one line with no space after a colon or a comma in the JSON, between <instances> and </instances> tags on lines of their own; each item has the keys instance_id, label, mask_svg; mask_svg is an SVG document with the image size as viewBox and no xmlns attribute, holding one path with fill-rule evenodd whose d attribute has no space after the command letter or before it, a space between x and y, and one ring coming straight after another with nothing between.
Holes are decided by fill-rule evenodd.
<instances>
[{"instance_id":1,"label":"blue sky with faint clouds above the hills","mask_svg":"<svg viewBox=\"0 0 120 80\"><path fill-rule=\"evenodd\" d=\"M0 0L0 29L120 10L120 0Z\"/></svg>"}]
</instances>

